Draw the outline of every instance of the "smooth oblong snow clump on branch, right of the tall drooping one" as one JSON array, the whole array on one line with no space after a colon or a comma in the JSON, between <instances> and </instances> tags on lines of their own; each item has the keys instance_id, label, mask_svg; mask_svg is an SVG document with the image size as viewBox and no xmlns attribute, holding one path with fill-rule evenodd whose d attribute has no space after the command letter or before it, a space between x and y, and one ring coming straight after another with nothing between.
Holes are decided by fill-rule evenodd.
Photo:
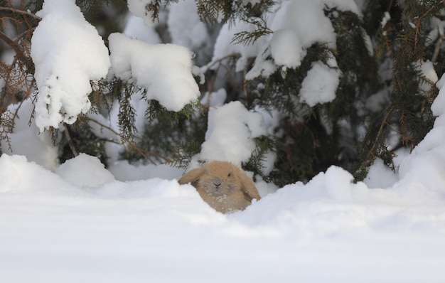
<instances>
[{"instance_id":1,"label":"smooth oblong snow clump on branch, right of the tall drooping one","mask_svg":"<svg viewBox=\"0 0 445 283\"><path fill-rule=\"evenodd\" d=\"M157 100L171 111L198 99L193 53L188 48L144 43L122 33L112 33L108 39L114 75L143 87L147 99Z\"/></svg>"}]
</instances>

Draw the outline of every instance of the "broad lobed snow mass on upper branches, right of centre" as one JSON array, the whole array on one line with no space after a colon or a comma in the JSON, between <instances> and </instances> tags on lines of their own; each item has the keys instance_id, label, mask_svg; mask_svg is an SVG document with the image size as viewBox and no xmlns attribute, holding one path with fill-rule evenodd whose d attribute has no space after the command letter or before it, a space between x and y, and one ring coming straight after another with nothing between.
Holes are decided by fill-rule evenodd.
<instances>
[{"instance_id":1,"label":"broad lobed snow mass on upper branches, right of centre","mask_svg":"<svg viewBox=\"0 0 445 283\"><path fill-rule=\"evenodd\" d=\"M233 44L231 41L235 33L252 32L256 27L242 21L227 23L220 31L213 59L209 65L229 55L237 55L239 58L236 70L240 71L245 68L247 59L254 57L255 63L246 74L247 80L260 75L268 77L279 68L282 70L298 68L306 56L306 49L314 43L326 43L328 48L336 48L336 33L330 19L324 13L326 7L352 11L360 16L360 9L353 0L277 1L270 9L271 12L264 15L267 27L273 31L271 35L262 36L252 45Z\"/></svg>"}]
</instances>

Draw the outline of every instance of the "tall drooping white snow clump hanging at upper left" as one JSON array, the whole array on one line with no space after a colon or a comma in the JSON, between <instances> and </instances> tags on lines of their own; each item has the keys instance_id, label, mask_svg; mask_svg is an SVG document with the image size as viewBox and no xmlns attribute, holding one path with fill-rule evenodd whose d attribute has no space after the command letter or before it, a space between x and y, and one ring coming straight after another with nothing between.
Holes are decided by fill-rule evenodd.
<instances>
[{"instance_id":1,"label":"tall drooping white snow clump hanging at upper left","mask_svg":"<svg viewBox=\"0 0 445 283\"><path fill-rule=\"evenodd\" d=\"M31 39L38 87L36 124L58 128L73 124L90 110L90 80L104 78L110 62L107 47L74 0L45 0Z\"/></svg>"}]
</instances>

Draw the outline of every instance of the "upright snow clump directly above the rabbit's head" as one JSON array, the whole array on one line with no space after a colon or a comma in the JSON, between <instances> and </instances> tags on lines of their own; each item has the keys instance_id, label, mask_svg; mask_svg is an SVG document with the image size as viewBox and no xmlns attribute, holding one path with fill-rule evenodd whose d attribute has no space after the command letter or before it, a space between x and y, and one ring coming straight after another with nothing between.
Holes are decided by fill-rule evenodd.
<instances>
[{"instance_id":1,"label":"upright snow clump directly above the rabbit's head","mask_svg":"<svg viewBox=\"0 0 445 283\"><path fill-rule=\"evenodd\" d=\"M241 102L213 108L208 112L208 130L198 159L241 165L255 149L253 138L265 134L267 129L262 114L250 112Z\"/></svg>"}]
</instances>

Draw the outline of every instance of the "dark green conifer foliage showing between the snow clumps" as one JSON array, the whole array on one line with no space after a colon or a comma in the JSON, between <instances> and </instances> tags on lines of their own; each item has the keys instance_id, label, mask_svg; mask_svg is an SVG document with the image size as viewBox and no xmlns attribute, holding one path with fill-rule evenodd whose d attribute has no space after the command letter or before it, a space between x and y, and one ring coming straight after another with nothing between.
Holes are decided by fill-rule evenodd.
<instances>
[{"instance_id":1,"label":"dark green conifer foliage showing between the snow clumps","mask_svg":"<svg viewBox=\"0 0 445 283\"><path fill-rule=\"evenodd\" d=\"M159 22L160 13L171 2L175 1L153 0L146 9ZM267 26L266 16L274 6L272 0L195 3L198 16L208 24L211 34L218 33L220 23L235 25L243 21L256 27L254 31L236 33L231 39L233 44L249 46L274 32ZM11 1L0 1L0 55L15 54L13 63L0 62L0 79L4 82L0 92L0 139L6 145L16 119L9 105L33 99L30 42L40 21L35 14L42 4L43 0L29 0L12 6ZM127 1L76 0L76 4L87 21L100 28L103 38L122 30ZM363 16L359 16L326 6L324 13L336 33L336 49L330 49L325 42L314 43L306 49L298 68L279 69L267 77L248 81L245 74L252 68L254 58L249 58L245 70L238 72L235 64L240 54L216 62L218 68L208 68L201 85L203 95L223 87L226 102L238 100L252 111L279 112L276 129L269 136L254 140L256 149L243 164L255 176L284 186L309 181L316 173L338 165L353 173L356 180L363 180L375 159L382 159L395 169L392 160L397 149L413 149L431 129L434 117L430 106L437 89L421 67L430 61L439 77L444 73L445 37L434 24L444 20L444 1L367 0L362 12ZM437 36L431 36L434 31ZM333 58L337 66L330 68L341 72L335 100L312 107L301 102L301 85L313 63L329 66ZM206 105L197 101L180 112L171 112L159 102L147 101L146 124L138 132L131 98L136 92L144 97L146 90L116 78L91 84L91 111L107 117L112 105L119 105L119 132L113 132L115 139L97 137L91 123L104 130L107 126L87 115L73 125L51 129L60 149L60 161L86 152L106 163L105 145L109 142L123 144L120 158L133 163L168 162L185 168L200 152L208 127ZM370 102L376 96L380 97L380 104L372 105ZM277 159L272 171L264 172L263 161L270 152Z\"/></svg>"}]
</instances>

